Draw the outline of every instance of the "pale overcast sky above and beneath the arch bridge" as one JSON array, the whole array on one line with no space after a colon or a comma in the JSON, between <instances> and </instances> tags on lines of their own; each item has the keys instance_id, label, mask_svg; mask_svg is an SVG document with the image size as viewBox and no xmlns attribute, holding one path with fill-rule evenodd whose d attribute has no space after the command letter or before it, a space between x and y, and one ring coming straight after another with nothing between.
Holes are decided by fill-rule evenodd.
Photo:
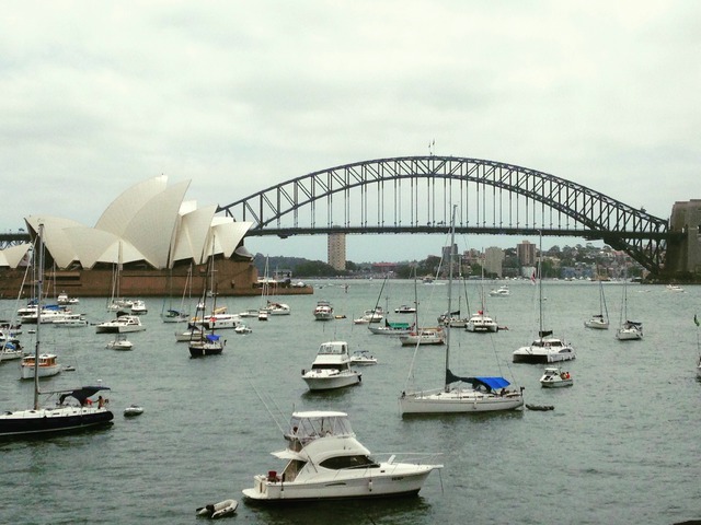
<instances>
[{"instance_id":1,"label":"pale overcast sky above and beneath the arch bridge","mask_svg":"<svg viewBox=\"0 0 701 525\"><path fill-rule=\"evenodd\" d=\"M699 27L694 0L10 0L0 230L36 214L94 225L158 175L226 206L432 141L437 155L529 167L667 218L701 198ZM470 247L521 241L476 237ZM585 242L570 241L543 245ZM441 245L365 235L346 249L410 260ZM322 235L246 247L326 258Z\"/></svg>"}]
</instances>

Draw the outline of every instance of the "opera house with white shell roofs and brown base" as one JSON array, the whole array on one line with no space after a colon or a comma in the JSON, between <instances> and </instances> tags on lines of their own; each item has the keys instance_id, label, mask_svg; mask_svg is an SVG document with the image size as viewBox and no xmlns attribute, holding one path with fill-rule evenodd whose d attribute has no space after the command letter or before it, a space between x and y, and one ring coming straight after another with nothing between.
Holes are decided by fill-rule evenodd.
<instances>
[{"instance_id":1,"label":"opera house with white shell roofs and brown base","mask_svg":"<svg viewBox=\"0 0 701 525\"><path fill-rule=\"evenodd\" d=\"M217 206L187 201L189 180L168 186L159 176L117 197L93 228L71 219L31 215L36 242L44 224L45 290L71 296L255 295L257 271L243 237L250 222L217 217ZM34 243L0 250L0 296L31 296ZM215 271L209 272L212 259Z\"/></svg>"}]
</instances>

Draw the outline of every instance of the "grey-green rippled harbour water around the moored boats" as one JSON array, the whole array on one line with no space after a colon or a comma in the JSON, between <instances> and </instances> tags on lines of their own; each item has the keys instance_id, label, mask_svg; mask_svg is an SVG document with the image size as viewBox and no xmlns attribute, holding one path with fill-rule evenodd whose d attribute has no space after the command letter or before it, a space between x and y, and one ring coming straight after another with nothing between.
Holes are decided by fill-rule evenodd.
<instances>
[{"instance_id":1,"label":"grey-green rippled harbour water around the moored boats","mask_svg":"<svg viewBox=\"0 0 701 525\"><path fill-rule=\"evenodd\" d=\"M156 299L147 302L148 329L129 335L130 352L106 350L112 336L97 335L92 326L43 328L44 349L57 339L62 362L78 366L44 381L43 388L102 380L112 387L115 424L0 443L2 522L197 523L197 506L227 498L240 501L233 520L246 524L669 524L701 517L701 383L692 320L701 314L701 289L629 287L629 314L644 322L645 339L620 342L613 337L620 284L605 285L611 329L597 331L583 325L598 312L597 284L548 283L547 325L577 352L576 361L564 365L574 386L550 390L538 382L542 366L510 363L537 325L536 287L512 283L509 298L487 299L489 312L508 330L452 330L451 368L459 374L504 375L526 387L527 402L555 409L402 419L398 397L414 349L352 322L375 306L382 282L347 281L347 291L342 281L314 284L314 295L281 298L290 316L249 319L254 331L246 336L223 332L228 342L220 357L188 359L186 345L174 342L175 325L160 322ZM473 311L478 287L468 284ZM422 324L435 323L446 310L446 290L418 285ZM453 307L462 294L456 287ZM347 318L313 320L320 299ZM393 311L413 300L412 282L390 281L380 304ZM260 298L221 302L240 312L256 307ZM0 317L10 317L15 307L13 301L0 302ZM108 317L104 300L82 300L78 310L93 323ZM31 348L30 336L23 337ZM380 363L361 369L358 387L312 395L300 372L331 339L370 350ZM443 359L440 347L418 350L418 385L441 383ZM18 369L13 362L0 366L2 409L31 404L32 385L19 381ZM145 413L125 419L122 411L133 402ZM312 408L347 411L358 439L375 453L439 452L445 468L413 499L287 509L245 504L241 489L252 485L253 475L283 467L269 455L284 446L275 421L284 427L292 410Z\"/></svg>"}]
</instances>

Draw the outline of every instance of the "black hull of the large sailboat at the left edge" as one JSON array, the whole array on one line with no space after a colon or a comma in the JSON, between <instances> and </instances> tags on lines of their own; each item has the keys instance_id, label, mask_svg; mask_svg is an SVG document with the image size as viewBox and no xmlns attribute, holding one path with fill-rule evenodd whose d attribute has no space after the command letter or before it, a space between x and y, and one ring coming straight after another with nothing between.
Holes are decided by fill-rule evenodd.
<instances>
[{"instance_id":1,"label":"black hull of the large sailboat at the left edge","mask_svg":"<svg viewBox=\"0 0 701 525\"><path fill-rule=\"evenodd\" d=\"M104 408L62 407L21 410L0 416L0 438L31 436L112 424L114 415Z\"/></svg>"}]
</instances>

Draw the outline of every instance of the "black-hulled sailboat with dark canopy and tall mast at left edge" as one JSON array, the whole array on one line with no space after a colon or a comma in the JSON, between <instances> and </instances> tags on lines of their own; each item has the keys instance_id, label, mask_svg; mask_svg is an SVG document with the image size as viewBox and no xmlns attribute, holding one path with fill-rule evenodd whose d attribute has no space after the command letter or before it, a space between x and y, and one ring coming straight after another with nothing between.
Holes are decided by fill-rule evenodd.
<instances>
[{"instance_id":1,"label":"black-hulled sailboat with dark canopy and tall mast at left edge","mask_svg":"<svg viewBox=\"0 0 701 525\"><path fill-rule=\"evenodd\" d=\"M44 225L38 228L38 271L37 299L42 306L42 281L44 280ZM39 362L41 355L41 323L36 325L36 343L34 347L34 362ZM0 415L0 438L23 438L53 432L77 431L112 424L114 415L107 410L106 402L100 396L95 404L91 396L108 390L106 386L83 386L80 388L43 393L39 390L39 368L34 366L34 402L26 410L4 411ZM39 395L56 395L56 406L42 408Z\"/></svg>"}]
</instances>

